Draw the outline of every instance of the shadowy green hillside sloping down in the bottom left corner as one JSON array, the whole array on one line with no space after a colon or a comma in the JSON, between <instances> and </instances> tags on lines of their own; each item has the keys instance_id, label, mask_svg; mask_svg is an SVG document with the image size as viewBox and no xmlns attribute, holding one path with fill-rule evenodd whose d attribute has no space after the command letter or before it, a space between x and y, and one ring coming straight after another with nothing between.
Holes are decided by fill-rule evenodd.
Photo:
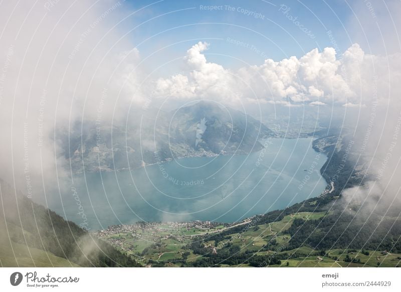
<instances>
[{"instance_id":1,"label":"shadowy green hillside sloping down in the bottom left corner","mask_svg":"<svg viewBox=\"0 0 401 292\"><path fill-rule=\"evenodd\" d=\"M0 180L1 266L140 266Z\"/></svg>"}]
</instances>

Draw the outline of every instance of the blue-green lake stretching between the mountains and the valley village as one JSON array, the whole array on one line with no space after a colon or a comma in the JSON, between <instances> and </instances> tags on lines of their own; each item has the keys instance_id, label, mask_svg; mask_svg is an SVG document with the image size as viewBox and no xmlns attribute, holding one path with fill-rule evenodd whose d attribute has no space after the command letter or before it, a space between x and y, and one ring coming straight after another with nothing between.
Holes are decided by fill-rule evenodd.
<instances>
[{"instance_id":1,"label":"blue-green lake stretching between the mountains and the valley village","mask_svg":"<svg viewBox=\"0 0 401 292\"><path fill-rule=\"evenodd\" d=\"M249 155L77 174L48 205L95 230L140 220L234 222L320 195L327 157L312 149L312 138L262 142L265 149Z\"/></svg>"}]
</instances>

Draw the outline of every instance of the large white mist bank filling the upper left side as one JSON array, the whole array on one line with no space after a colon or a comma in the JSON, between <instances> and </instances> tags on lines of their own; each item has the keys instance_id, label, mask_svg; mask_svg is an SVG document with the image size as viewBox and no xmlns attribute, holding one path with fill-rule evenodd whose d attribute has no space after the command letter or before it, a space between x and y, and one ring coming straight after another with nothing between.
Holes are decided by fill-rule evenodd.
<instances>
[{"instance_id":1,"label":"large white mist bank filling the upper left side","mask_svg":"<svg viewBox=\"0 0 401 292\"><path fill-rule=\"evenodd\" d=\"M61 154L68 140L60 131L68 135L81 120L111 124L113 115L124 117L133 99L143 99L139 51L120 40L122 32L114 27L128 13L124 5L94 0L1 4L0 134L7 140L0 145L1 178L21 179L24 191L28 175L32 181L33 175L43 175L48 182L64 169L68 174L69 162Z\"/></svg>"}]
</instances>

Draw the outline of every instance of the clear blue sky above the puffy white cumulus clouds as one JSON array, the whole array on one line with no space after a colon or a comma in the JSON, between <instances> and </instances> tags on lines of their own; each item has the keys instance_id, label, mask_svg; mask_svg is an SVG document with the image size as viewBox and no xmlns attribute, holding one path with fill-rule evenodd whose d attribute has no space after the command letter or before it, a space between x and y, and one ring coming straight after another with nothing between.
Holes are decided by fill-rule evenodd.
<instances>
[{"instance_id":1,"label":"clear blue sky above the puffy white cumulus clouds","mask_svg":"<svg viewBox=\"0 0 401 292\"><path fill-rule=\"evenodd\" d=\"M290 56L300 57L313 48L331 47L327 31L332 32L340 53L352 44L344 33L351 10L343 1L326 4L324 1L165 0L158 3L130 1L128 5L133 10L150 5L130 18L131 29L139 25L130 36L141 56L169 46L152 57L158 64L165 56L169 59L183 56L197 41L210 43L206 52L208 61L225 67L241 67L242 62L258 65L266 58L278 61ZM220 10L210 11L201 6L218 6ZM259 16L248 16L243 10ZM243 45L230 43L228 38Z\"/></svg>"}]
</instances>

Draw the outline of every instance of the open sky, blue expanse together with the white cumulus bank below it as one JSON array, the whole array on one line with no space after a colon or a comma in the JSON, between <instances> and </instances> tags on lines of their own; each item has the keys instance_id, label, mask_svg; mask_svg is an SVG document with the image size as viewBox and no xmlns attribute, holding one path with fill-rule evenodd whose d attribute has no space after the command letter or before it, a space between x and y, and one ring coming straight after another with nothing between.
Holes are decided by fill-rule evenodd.
<instances>
[{"instance_id":1,"label":"open sky, blue expanse together with the white cumulus bank below it","mask_svg":"<svg viewBox=\"0 0 401 292\"><path fill-rule=\"evenodd\" d=\"M400 51L400 8L397 0L127 0L116 31L154 81L146 96L361 107L375 74L398 67L385 56Z\"/></svg>"}]
</instances>

